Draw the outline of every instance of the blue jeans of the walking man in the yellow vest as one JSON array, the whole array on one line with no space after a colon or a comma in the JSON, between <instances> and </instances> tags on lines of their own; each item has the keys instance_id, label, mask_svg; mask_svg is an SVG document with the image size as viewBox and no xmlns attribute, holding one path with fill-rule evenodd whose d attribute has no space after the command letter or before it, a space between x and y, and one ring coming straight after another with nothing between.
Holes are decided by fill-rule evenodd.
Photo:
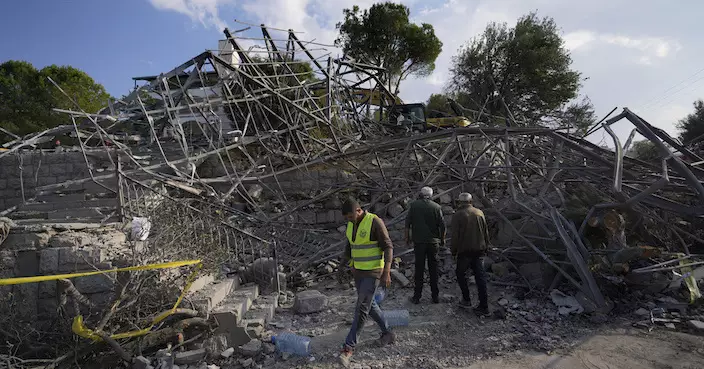
<instances>
[{"instance_id":1,"label":"blue jeans of the walking man in the yellow vest","mask_svg":"<svg viewBox=\"0 0 704 369\"><path fill-rule=\"evenodd\" d=\"M362 333L364 323L366 323L369 316L379 325L382 334L390 331L379 305L374 301L374 294L379 287L379 280L374 277L355 278L355 286L357 287L357 305L355 306L350 333L345 339L345 346L351 349L354 349L354 346L357 345L357 339Z\"/></svg>"}]
</instances>

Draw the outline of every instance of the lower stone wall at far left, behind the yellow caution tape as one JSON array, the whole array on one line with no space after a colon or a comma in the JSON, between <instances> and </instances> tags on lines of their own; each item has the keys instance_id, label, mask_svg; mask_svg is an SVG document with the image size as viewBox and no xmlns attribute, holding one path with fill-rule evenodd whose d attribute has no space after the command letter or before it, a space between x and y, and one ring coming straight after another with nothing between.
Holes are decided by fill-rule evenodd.
<instances>
[{"instance_id":1,"label":"lower stone wall at far left, behind the yellow caution tape","mask_svg":"<svg viewBox=\"0 0 704 369\"><path fill-rule=\"evenodd\" d=\"M80 227L12 228L0 245L0 278L111 269L114 260L123 259L126 236L121 230ZM102 308L112 297L113 278L101 274L72 281L96 308ZM10 300L0 303L16 304L14 309L21 312L23 319L40 322L56 317L56 281L2 286L0 296L9 296ZM0 306L2 308L8 306Z\"/></svg>"}]
</instances>

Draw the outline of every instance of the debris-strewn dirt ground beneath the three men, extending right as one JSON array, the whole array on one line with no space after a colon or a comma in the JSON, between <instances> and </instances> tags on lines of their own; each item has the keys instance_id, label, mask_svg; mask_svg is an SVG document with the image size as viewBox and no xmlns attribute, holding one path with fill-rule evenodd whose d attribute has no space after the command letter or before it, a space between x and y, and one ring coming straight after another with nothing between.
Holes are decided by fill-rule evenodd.
<instances>
[{"instance_id":1,"label":"debris-strewn dirt ground beneath the three men, extending right","mask_svg":"<svg viewBox=\"0 0 704 369\"><path fill-rule=\"evenodd\" d=\"M313 337L313 358L269 360L264 368L340 367L336 356L349 330L355 291L334 281L313 288L328 296L327 310L301 316L284 306L274 321L277 331ZM563 317L546 296L518 299L510 290L492 292L495 307L499 299L508 301L504 319L479 319L459 308L459 291L451 285L442 287L440 304L426 298L413 305L410 288L394 288L382 308L408 309L409 326L395 329L396 344L379 348L373 343L379 330L368 323L352 368L704 368L700 336L664 327L648 332L632 327L637 319L628 316Z\"/></svg>"}]
</instances>

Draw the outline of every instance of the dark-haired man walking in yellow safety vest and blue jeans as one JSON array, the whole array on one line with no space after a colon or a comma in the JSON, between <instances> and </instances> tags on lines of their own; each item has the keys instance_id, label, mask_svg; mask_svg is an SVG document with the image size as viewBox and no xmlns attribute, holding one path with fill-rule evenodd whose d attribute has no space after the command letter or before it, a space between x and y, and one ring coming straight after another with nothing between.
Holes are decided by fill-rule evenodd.
<instances>
[{"instance_id":1,"label":"dark-haired man walking in yellow safety vest and blue jeans","mask_svg":"<svg viewBox=\"0 0 704 369\"><path fill-rule=\"evenodd\" d=\"M381 337L377 340L379 345L391 344L396 339L374 300L380 284L384 287L391 284L393 244L384 221L362 210L356 200L345 201L342 204L342 214L348 223L347 246L340 268L345 264L350 266L357 288L357 305L352 327L339 356L340 363L348 367L367 317L371 316L381 329Z\"/></svg>"}]
</instances>

